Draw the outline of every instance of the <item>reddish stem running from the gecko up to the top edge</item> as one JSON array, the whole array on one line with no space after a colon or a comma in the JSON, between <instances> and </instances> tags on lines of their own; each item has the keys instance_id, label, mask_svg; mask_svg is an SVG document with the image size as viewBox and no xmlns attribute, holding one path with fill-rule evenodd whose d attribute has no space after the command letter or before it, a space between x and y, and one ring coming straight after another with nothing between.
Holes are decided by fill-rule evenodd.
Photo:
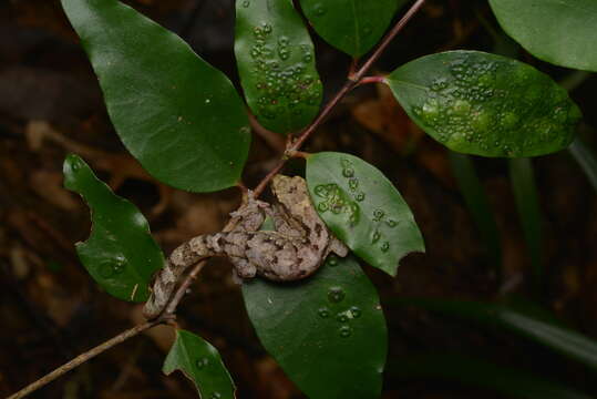
<instances>
[{"instance_id":1,"label":"reddish stem running from the gecko up to the top edge","mask_svg":"<svg viewBox=\"0 0 597 399\"><path fill-rule=\"evenodd\" d=\"M370 76L364 78L367 72L371 69L373 63L378 61L378 59L381 57L381 54L385 51L388 45L390 45L390 42L397 37L400 31L406 25L406 23L414 17L414 14L423 7L425 3L425 0L416 0L414 4L404 13L404 16L397 22L397 24L392 28L390 32L382 39L380 42L380 45L375 49L375 51L369 57L369 59L362 64L360 69L357 70L354 73L349 73L349 80L348 82L340 89L340 91L330 100L329 103L326 104L323 110L321 110L321 113L317 116L317 119L307 126L300 136L289 146L287 146L285 156L278 162L278 164L271 170L267 176L264 177L264 180L259 183L259 185L255 188L255 196L259 196L266 186L269 184L269 181L274 178L275 175L277 175L284 165L286 164L286 161L288 160L288 154L292 152L297 152L300 150L302 144L313 134L313 132L323 123L326 117L329 116L331 111L338 103L344 98L344 95L350 92L352 89L358 86L363 80L366 80L368 83L371 83L372 79L379 79L379 81L382 81L383 78L381 76ZM351 66L352 70L352 66Z\"/></svg>"}]
</instances>

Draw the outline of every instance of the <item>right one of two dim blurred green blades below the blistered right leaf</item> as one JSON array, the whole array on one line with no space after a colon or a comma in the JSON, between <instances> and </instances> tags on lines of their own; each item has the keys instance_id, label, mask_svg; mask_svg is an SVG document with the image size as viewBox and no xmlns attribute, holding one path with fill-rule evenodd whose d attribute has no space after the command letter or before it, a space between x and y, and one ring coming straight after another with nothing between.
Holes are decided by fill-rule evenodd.
<instances>
[{"instance_id":1,"label":"right one of two dim blurred green blades below the blistered right leaf","mask_svg":"<svg viewBox=\"0 0 597 399\"><path fill-rule=\"evenodd\" d=\"M543 284L543 215L539 194L535 183L533 163L528 158L509 160L509 178L518 217L523 225L526 246L533 265L534 284L542 288Z\"/></svg>"}]
</instances>

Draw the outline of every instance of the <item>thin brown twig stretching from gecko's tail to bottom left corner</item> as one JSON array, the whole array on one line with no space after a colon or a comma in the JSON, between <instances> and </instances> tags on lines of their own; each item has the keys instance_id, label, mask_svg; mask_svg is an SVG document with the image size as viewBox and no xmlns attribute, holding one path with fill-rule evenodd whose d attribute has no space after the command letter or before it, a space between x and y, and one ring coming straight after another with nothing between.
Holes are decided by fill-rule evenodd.
<instances>
[{"instance_id":1,"label":"thin brown twig stretching from gecko's tail to bottom left corner","mask_svg":"<svg viewBox=\"0 0 597 399\"><path fill-rule=\"evenodd\" d=\"M24 398L29 393L31 393L31 392L40 389L41 387L52 382L56 378L63 376L64 374L71 371L72 369L81 366L82 364L84 364L85 361L94 358L95 356L97 356L97 355L106 351L107 349L110 349L110 348L112 348L112 347L114 347L114 346L116 346L119 344L124 342L128 338L137 336L141 332L143 332L143 331L145 331L145 330L147 330L147 329L150 329L150 328L152 328L154 326L157 326L158 324L162 324L164 321L165 321L164 318L159 318L159 319L156 319L156 320L153 320L153 321L147 321L145 324L135 326L135 327L133 327L131 329L127 329L126 331L123 331L123 332L119 334L114 338L112 338L112 339L110 339L110 340L107 340L107 341L105 341L105 342L103 342L101 345L97 345L95 348L90 349L86 352L79 355L78 357L75 357L74 359L69 361L68 364L64 364L64 365L60 366L54 371L43 376L39 380L37 380L33 383L24 387L23 389L21 389L20 391L18 391L14 395L8 397L7 399Z\"/></svg>"}]
</instances>

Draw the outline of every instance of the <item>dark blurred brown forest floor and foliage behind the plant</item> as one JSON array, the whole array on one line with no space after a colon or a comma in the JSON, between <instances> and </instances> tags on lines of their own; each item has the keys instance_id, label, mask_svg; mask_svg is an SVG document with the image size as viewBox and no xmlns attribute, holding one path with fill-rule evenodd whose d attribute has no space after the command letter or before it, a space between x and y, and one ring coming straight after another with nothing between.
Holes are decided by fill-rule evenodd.
<instances>
[{"instance_id":1,"label":"dark blurred brown forest floor and foliage behind the plant","mask_svg":"<svg viewBox=\"0 0 597 399\"><path fill-rule=\"evenodd\" d=\"M231 0L127 2L185 38L238 86ZM350 60L313 39L329 96ZM352 92L308 143L306 151L348 152L380 167L425 238L428 254L410 255L395 279L367 268L390 330L383 398L595 397L595 344L545 326L597 338L597 174L590 157L597 79L534 59L501 33L485 1L466 0L430 0L375 72L453 49L517 57L563 82L585 115L584 144L509 163L451 155L410 122L387 88L374 85ZM247 185L272 167L282 145L278 136L255 134ZM151 178L119 142L59 1L1 2L1 396L142 320L138 305L102 293L76 258L73 244L86 238L90 218L62 188L69 152L143 211L166 252L219 231L239 203L235 190L189 194ZM206 268L179 307L179 321L220 350L239 398L303 397L256 339L225 262ZM547 338L545 328L553 332ZM169 328L155 328L33 397L196 397L182 377L161 374L173 338Z\"/></svg>"}]
</instances>

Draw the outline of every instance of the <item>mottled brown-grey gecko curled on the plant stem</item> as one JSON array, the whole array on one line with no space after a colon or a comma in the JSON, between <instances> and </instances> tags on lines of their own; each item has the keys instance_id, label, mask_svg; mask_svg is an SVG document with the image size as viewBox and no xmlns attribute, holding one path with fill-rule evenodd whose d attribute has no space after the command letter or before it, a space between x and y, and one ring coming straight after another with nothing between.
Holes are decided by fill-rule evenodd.
<instances>
[{"instance_id":1,"label":"mottled brown-grey gecko curled on the plant stem","mask_svg":"<svg viewBox=\"0 0 597 399\"><path fill-rule=\"evenodd\" d=\"M277 175L271 191L277 198L272 205L249 195L248 202L230 214L234 227L229 232L200 235L176 248L156 274L145 317L158 316L184 272L212 256L227 256L240 280L259 275L294 282L313 274L329 253L348 254L313 208L302 177ZM275 231L259 231L266 216L272 219Z\"/></svg>"}]
</instances>

